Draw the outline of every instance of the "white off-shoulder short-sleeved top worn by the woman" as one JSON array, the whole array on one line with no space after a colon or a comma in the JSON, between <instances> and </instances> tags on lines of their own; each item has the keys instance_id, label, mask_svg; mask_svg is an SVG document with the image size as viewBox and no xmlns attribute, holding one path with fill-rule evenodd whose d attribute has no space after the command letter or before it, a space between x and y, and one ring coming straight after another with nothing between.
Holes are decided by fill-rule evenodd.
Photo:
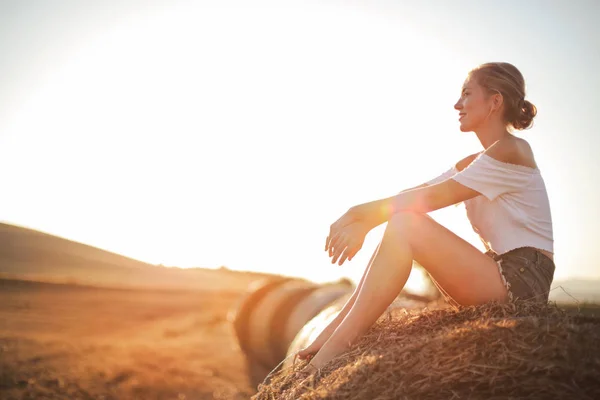
<instances>
[{"instance_id":1,"label":"white off-shoulder short-sleeved top worn by the woman","mask_svg":"<svg viewBox=\"0 0 600 400\"><path fill-rule=\"evenodd\" d=\"M427 184L447 179L481 193L465 201L465 208L486 250L504 254L534 247L554 253L550 203L538 168L508 164L481 153L462 171L452 167Z\"/></svg>"}]
</instances>

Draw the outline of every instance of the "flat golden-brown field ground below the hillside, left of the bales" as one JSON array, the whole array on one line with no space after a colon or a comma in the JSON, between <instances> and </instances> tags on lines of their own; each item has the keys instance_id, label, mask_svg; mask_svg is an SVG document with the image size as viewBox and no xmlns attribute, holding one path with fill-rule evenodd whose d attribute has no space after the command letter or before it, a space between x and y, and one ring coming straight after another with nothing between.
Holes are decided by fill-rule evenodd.
<instances>
[{"instance_id":1,"label":"flat golden-brown field ground below the hillside, left of the bales","mask_svg":"<svg viewBox=\"0 0 600 400\"><path fill-rule=\"evenodd\" d=\"M248 399L240 295L0 280L0 398Z\"/></svg>"}]
</instances>

